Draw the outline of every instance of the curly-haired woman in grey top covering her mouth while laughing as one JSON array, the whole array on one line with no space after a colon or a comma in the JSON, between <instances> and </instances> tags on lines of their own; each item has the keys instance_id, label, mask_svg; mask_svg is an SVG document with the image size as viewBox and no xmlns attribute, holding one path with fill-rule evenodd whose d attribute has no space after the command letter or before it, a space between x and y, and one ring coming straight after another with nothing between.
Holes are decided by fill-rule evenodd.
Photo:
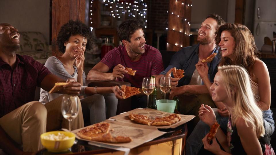
<instances>
[{"instance_id":1,"label":"curly-haired woman in grey top covering her mouth while laughing","mask_svg":"<svg viewBox=\"0 0 276 155\"><path fill-rule=\"evenodd\" d=\"M117 98L122 99L121 93L123 92L118 86L107 88L85 86L84 52L90 50L92 44L90 28L78 20L70 20L61 27L57 35L58 49L64 54L60 57L49 57L45 66L60 78L74 78L83 84L81 95L85 97L80 96L80 98L84 120L90 118L90 123L94 124L116 115ZM49 94L41 88L39 101L47 104L60 95Z\"/></svg>"}]
</instances>

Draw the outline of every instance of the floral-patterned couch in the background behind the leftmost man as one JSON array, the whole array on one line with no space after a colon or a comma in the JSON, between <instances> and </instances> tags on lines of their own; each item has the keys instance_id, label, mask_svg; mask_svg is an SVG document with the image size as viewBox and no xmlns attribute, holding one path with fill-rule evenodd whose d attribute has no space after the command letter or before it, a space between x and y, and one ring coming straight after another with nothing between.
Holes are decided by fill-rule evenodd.
<instances>
[{"instance_id":1,"label":"floral-patterned couch in the background behind the leftmost man","mask_svg":"<svg viewBox=\"0 0 276 155\"><path fill-rule=\"evenodd\" d=\"M52 52L47 39L41 32L19 32L20 49L16 52L20 55L28 55L42 64L45 64Z\"/></svg>"}]
</instances>

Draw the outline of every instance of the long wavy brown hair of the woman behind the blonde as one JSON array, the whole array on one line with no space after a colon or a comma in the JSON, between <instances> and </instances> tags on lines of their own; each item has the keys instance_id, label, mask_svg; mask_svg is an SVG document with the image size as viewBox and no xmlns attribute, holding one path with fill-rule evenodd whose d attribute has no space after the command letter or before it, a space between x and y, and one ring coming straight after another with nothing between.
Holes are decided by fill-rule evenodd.
<instances>
[{"instance_id":1,"label":"long wavy brown hair of the woman behind the blonde","mask_svg":"<svg viewBox=\"0 0 276 155\"><path fill-rule=\"evenodd\" d=\"M257 58L258 49L255 45L254 37L250 30L242 24L224 24L216 32L216 44L221 41L221 33L227 31L235 41L233 51L233 61L230 58L222 57L219 66L242 65L252 77L252 68Z\"/></svg>"}]
</instances>

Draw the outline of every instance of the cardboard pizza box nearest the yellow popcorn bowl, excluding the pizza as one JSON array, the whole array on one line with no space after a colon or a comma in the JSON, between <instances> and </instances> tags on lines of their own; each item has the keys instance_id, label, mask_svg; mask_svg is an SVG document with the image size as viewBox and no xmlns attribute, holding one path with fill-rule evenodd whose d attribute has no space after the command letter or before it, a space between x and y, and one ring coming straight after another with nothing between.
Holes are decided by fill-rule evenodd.
<instances>
[{"instance_id":1,"label":"cardboard pizza box nearest the yellow popcorn bowl, excluding the pizza","mask_svg":"<svg viewBox=\"0 0 276 155\"><path fill-rule=\"evenodd\" d=\"M76 129L72 131L72 133L74 133L76 135L76 138L78 139L85 140L88 142L93 142L93 143L89 143L91 145L100 146L104 148L111 148L115 150L116 148L119 148L119 147L132 149L166 133L166 132L158 131L156 127L152 127L152 126L124 123L124 122L118 122L118 121L112 121L112 120L105 120L104 122L110 123L110 133L112 136L114 137L127 136L127 137L131 137L133 141L129 143L104 143L104 142L96 142L96 141L83 139L76 134L79 130L83 128Z\"/></svg>"}]
</instances>

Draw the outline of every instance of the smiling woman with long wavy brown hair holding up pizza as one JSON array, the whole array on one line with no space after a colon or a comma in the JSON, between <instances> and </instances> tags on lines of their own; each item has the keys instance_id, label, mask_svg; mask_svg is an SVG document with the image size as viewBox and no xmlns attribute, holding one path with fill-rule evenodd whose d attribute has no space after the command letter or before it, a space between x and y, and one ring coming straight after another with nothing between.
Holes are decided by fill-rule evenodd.
<instances>
[{"instance_id":1,"label":"smiling woman with long wavy brown hair holding up pizza","mask_svg":"<svg viewBox=\"0 0 276 155\"><path fill-rule=\"evenodd\" d=\"M263 113L266 131L272 135L275 128L273 114L270 110L271 104L271 87L269 72L264 62L257 58L257 47L254 42L254 37L250 30L242 24L227 23L218 28L216 34L216 44L221 48L222 59L219 66L223 65L241 65L250 75L250 83L254 92L256 102ZM208 88L210 94L210 86L208 80L208 65L201 61L196 64L196 68L202 81ZM227 120L229 111L226 107L223 109L213 109L216 114L217 121L221 124L221 128L226 132ZM186 154L198 154L202 141L201 139L209 131L208 125L199 121L191 137L187 139ZM200 134L199 134L200 133Z\"/></svg>"}]
</instances>

